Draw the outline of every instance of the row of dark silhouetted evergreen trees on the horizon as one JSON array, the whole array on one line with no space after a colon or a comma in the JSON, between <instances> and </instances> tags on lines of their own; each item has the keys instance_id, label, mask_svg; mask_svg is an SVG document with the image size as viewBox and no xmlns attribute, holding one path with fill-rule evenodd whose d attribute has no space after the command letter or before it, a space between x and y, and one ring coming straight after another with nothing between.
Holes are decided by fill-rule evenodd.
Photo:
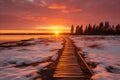
<instances>
[{"instance_id":1,"label":"row of dark silhouetted evergreen trees on the horizon","mask_svg":"<svg viewBox=\"0 0 120 80\"><path fill-rule=\"evenodd\" d=\"M83 28L83 25L74 27L71 26L71 34L75 35L120 35L120 24L116 26L110 25L108 21L100 22L98 25L87 25Z\"/></svg>"}]
</instances>

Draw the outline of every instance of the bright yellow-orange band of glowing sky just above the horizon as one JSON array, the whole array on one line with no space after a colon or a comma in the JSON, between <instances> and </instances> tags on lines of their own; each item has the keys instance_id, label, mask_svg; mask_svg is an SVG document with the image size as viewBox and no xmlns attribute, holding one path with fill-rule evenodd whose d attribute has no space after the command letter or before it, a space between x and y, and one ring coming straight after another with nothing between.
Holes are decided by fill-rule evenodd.
<instances>
[{"instance_id":1,"label":"bright yellow-orange band of glowing sky just above the horizon","mask_svg":"<svg viewBox=\"0 0 120 80\"><path fill-rule=\"evenodd\" d=\"M39 27L36 26L33 30L0 30L0 33L55 33L59 31L60 33L69 33L70 28L64 26L51 26L47 27Z\"/></svg>"}]
</instances>

